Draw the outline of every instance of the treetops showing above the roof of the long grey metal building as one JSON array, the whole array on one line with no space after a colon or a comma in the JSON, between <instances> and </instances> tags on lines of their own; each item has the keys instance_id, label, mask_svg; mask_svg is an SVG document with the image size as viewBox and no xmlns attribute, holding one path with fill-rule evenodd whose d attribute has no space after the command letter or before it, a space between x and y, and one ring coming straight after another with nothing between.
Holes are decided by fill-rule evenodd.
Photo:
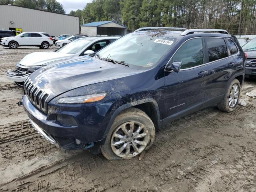
<instances>
[{"instance_id":1,"label":"treetops showing above the roof of the long grey metal building","mask_svg":"<svg viewBox=\"0 0 256 192\"><path fill-rule=\"evenodd\" d=\"M65 13L63 5L56 0L0 0L0 4L14 4L31 9Z\"/></svg>"}]
</instances>

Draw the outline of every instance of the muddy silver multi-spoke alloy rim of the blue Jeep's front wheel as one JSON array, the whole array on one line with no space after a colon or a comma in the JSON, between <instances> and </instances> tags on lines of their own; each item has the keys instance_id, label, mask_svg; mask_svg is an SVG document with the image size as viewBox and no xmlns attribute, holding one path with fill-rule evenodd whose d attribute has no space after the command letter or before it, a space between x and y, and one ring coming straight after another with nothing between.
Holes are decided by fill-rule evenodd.
<instances>
[{"instance_id":1,"label":"muddy silver multi-spoke alloy rim of the blue Jeep's front wheel","mask_svg":"<svg viewBox=\"0 0 256 192\"><path fill-rule=\"evenodd\" d=\"M126 122L114 131L111 138L113 152L121 158L132 158L140 154L148 145L148 129L139 122Z\"/></svg>"}]
</instances>

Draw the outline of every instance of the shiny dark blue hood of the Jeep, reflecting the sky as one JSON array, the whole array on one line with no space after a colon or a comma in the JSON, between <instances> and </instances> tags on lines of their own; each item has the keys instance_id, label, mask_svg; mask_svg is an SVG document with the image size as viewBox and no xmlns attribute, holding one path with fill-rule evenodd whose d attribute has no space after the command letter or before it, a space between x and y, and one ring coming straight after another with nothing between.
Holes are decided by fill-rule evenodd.
<instances>
[{"instance_id":1,"label":"shiny dark blue hood of the Jeep, reflecting the sky","mask_svg":"<svg viewBox=\"0 0 256 192\"><path fill-rule=\"evenodd\" d=\"M75 88L140 72L142 70L134 70L128 66L112 64L111 62L85 56L73 62L44 66L32 73L30 79L38 87L50 94L50 99L52 99Z\"/></svg>"}]
</instances>

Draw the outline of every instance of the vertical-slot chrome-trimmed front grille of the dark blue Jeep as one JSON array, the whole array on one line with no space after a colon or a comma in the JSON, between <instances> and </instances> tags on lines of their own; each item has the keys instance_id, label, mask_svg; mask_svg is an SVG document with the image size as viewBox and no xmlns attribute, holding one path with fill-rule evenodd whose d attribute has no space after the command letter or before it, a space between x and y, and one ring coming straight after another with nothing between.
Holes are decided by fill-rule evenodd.
<instances>
[{"instance_id":1,"label":"vertical-slot chrome-trimmed front grille of the dark blue Jeep","mask_svg":"<svg viewBox=\"0 0 256 192\"><path fill-rule=\"evenodd\" d=\"M40 89L36 84L33 84L31 79L26 79L24 82L24 90L28 99L32 104L34 104L38 109L43 112L47 112L47 103L46 100L49 98L49 94Z\"/></svg>"}]
</instances>

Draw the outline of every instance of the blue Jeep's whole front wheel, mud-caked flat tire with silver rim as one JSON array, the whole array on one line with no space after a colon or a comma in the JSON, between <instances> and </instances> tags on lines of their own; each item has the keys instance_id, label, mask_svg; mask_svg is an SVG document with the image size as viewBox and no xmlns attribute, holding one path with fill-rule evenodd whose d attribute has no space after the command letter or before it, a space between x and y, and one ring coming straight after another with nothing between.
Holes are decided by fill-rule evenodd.
<instances>
[{"instance_id":1,"label":"blue Jeep's whole front wheel, mud-caked flat tire with silver rim","mask_svg":"<svg viewBox=\"0 0 256 192\"><path fill-rule=\"evenodd\" d=\"M123 130L126 130L126 134ZM152 120L142 110L128 108L114 120L101 152L108 160L130 159L150 148L154 140Z\"/></svg>"}]
</instances>

